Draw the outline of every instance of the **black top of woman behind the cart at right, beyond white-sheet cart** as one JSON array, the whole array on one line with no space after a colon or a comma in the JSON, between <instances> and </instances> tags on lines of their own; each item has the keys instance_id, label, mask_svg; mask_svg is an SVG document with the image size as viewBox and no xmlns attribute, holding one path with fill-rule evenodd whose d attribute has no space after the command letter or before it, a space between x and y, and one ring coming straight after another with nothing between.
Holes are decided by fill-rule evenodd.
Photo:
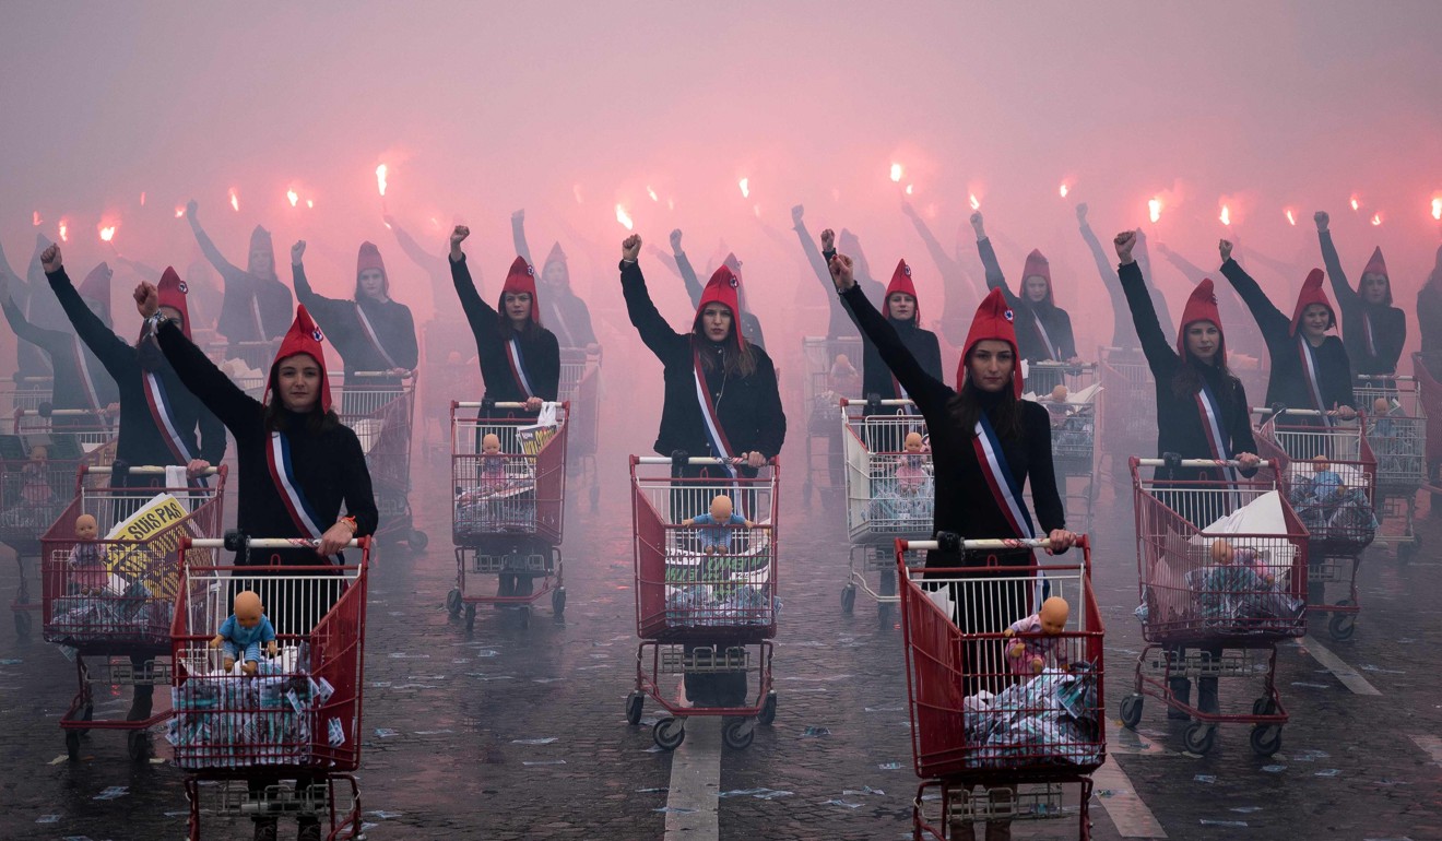
<instances>
[{"instance_id":1,"label":"black top of woman behind the cart at right, beyond white-sheet cart","mask_svg":"<svg viewBox=\"0 0 1442 841\"><path fill-rule=\"evenodd\" d=\"M1252 310L1262 339L1266 340L1268 356L1272 371L1266 384L1266 404L1270 407L1280 402L1288 408L1317 408L1312 400L1312 389L1302 369L1301 345L1306 339L1292 335L1292 319L1276 309L1246 271L1237 265L1236 260L1221 264L1221 274L1227 276L1231 287L1237 290L1242 300ZM1351 361L1347 348L1337 336L1327 336L1319 348L1315 348L1319 371L1318 385L1322 391L1322 408L1332 410L1338 405L1357 408L1353 397Z\"/></svg>"}]
</instances>

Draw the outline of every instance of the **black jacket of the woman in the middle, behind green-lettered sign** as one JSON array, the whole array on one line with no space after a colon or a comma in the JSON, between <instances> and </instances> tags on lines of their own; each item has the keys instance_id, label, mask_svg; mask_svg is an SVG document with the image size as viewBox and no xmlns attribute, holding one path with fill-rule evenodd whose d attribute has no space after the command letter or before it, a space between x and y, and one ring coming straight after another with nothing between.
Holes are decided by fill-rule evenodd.
<instances>
[{"instance_id":1,"label":"black jacket of the woman in the middle, behind green-lettered sign","mask_svg":"<svg viewBox=\"0 0 1442 841\"><path fill-rule=\"evenodd\" d=\"M642 342L660 359L665 368L665 402L660 408L660 431L656 452L669 456L685 450L691 456L714 456L707 439L701 405L696 402L695 365L692 348L699 343L704 353L720 352L720 346L695 339L691 332L678 333L656 310L646 291L640 265L622 263L622 293L626 310ZM760 452L771 457L786 441L786 413L776 385L776 368L761 348L751 348L756 371L748 377L728 378L717 365L707 374L707 388L717 405L717 415L733 456Z\"/></svg>"}]
</instances>

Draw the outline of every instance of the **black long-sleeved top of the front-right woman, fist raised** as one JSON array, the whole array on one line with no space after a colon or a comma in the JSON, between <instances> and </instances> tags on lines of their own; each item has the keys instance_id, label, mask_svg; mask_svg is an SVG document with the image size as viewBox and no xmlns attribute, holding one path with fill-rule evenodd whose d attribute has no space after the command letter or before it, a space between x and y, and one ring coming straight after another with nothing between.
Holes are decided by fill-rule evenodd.
<instances>
[{"instance_id":1,"label":"black long-sleeved top of the front-right woman, fist raised","mask_svg":"<svg viewBox=\"0 0 1442 841\"><path fill-rule=\"evenodd\" d=\"M949 404L956 391L917 364L895 329L861 293L861 287L846 290L842 297L926 418L927 433L932 437L932 463L936 469L933 529L955 532L969 540L1015 537L982 475L972 443L975 431L959 428L952 417ZM983 394L982 398L983 405L999 402L999 398L991 395ZM1045 535L1051 529L1066 528L1066 511L1051 466L1051 420L1047 410L1032 401L1022 401L1022 413L1021 437L1004 439L1002 452L1018 483L1025 485L1030 477L1037 525Z\"/></svg>"}]
</instances>

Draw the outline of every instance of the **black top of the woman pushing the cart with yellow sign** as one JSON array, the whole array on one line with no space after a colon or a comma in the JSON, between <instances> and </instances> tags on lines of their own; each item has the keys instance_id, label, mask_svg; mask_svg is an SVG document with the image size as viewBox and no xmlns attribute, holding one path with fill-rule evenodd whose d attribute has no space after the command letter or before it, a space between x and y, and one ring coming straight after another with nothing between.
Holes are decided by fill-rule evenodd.
<instances>
[{"instance_id":1,"label":"black top of the woman pushing the cart with yellow sign","mask_svg":"<svg viewBox=\"0 0 1442 841\"><path fill-rule=\"evenodd\" d=\"M164 355L153 345L134 346L111 333L99 316L81 300L65 268L45 276L55 290L65 314L81 340L95 353L115 381L120 392L120 441L115 446L115 460L133 466L180 464L162 431L156 427L146 400L144 375L149 368L160 378L174 410L179 434L186 449L198 459L219 464L225 456L225 428L205 405L186 388ZM141 364L144 356L144 366ZM199 436L196 436L199 430Z\"/></svg>"}]
</instances>

